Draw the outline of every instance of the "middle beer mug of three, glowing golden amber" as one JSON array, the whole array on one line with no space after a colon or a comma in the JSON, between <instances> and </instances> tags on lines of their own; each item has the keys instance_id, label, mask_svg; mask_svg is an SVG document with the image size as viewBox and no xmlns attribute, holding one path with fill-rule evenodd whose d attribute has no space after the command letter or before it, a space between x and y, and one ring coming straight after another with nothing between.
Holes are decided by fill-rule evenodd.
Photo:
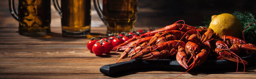
<instances>
[{"instance_id":1,"label":"middle beer mug of three, glowing golden amber","mask_svg":"<svg viewBox=\"0 0 256 79\"><path fill-rule=\"evenodd\" d=\"M91 5L90 0L52 0L55 9L61 15L62 34L81 37L90 34Z\"/></svg>"}]
</instances>

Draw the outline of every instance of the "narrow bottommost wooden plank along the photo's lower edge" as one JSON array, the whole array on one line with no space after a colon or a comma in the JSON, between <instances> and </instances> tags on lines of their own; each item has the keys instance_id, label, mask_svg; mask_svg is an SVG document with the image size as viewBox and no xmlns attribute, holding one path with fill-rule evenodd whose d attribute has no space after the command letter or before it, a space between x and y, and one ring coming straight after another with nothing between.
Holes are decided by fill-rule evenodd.
<instances>
[{"instance_id":1,"label":"narrow bottommost wooden plank along the photo's lower edge","mask_svg":"<svg viewBox=\"0 0 256 79\"><path fill-rule=\"evenodd\" d=\"M144 74L144 73L136 73L136 74L125 74L125 76L105 76L102 74L0 74L1 78L21 78L21 79L70 79L70 78L78 78L78 79L112 79L112 78L121 78L121 79L166 79L166 78L174 78L179 74L170 74L170 73L162 73L162 74ZM254 79L256 75L254 74L199 74L196 76L193 76L191 74L183 74L176 79Z\"/></svg>"}]
</instances>

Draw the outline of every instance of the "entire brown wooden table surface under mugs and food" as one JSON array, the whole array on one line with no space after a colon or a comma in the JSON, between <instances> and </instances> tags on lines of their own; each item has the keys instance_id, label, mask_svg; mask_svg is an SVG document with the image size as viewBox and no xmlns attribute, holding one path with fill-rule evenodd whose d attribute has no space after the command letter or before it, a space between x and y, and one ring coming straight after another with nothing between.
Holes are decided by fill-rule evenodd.
<instances>
[{"instance_id":1,"label":"entire brown wooden table surface under mugs and food","mask_svg":"<svg viewBox=\"0 0 256 79\"><path fill-rule=\"evenodd\" d=\"M87 37L62 37L61 28L53 27L49 37L26 37L15 27L0 27L0 78L173 78L183 71L137 70L105 76L102 65L113 64L122 52L95 56L87 50ZM143 28L137 28L143 29ZM93 27L94 35L105 34L105 27ZM121 62L127 59L122 59ZM230 65L236 66L236 65ZM218 70L218 69L216 69ZM256 66L230 71L191 71L178 78L256 78Z\"/></svg>"}]
</instances>

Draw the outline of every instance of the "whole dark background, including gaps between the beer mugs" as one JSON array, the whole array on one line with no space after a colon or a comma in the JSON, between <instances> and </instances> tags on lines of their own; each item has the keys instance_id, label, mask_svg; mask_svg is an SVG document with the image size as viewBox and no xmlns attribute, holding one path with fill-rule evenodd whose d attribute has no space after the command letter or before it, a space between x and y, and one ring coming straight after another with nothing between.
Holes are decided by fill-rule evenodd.
<instances>
[{"instance_id":1,"label":"whole dark background, including gaps between the beer mugs","mask_svg":"<svg viewBox=\"0 0 256 79\"><path fill-rule=\"evenodd\" d=\"M18 0L15 0L17 8ZM59 0L60 2L60 0ZM135 27L164 27L178 20L185 20L193 26L204 25L204 17L234 11L248 11L256 14L256 0L138 0L138 18ZM92 27L105 26L99 19L92 5ZM51 6L51 27L60 27L61 19L53 5ZM0 0L0 25L18 27L18 22L11 17L8 0Z\"/></svg>"}]
</instances>

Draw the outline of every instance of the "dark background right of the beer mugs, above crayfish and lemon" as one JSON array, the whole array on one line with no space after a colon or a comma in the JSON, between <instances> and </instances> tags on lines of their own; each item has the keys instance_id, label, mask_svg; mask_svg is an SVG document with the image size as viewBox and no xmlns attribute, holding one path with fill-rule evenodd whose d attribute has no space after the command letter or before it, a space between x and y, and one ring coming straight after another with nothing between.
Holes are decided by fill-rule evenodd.
<instances>
[{"instance_id":1,"label":"dark background right of the beer mugs, above crayfish and lemon","mask_svg":"<svg viewBox=\"0 0 256 79\"><path fill-rule=\"evenodd\" d=\"M137 22L146 26L163 26L177 20L185 20L186 24L198 26L204 25L202 23L204 17L210 18L215 14L234 11L256 14L256 0L138 0L138 2Z\"/></svg>"}]
</instances>

